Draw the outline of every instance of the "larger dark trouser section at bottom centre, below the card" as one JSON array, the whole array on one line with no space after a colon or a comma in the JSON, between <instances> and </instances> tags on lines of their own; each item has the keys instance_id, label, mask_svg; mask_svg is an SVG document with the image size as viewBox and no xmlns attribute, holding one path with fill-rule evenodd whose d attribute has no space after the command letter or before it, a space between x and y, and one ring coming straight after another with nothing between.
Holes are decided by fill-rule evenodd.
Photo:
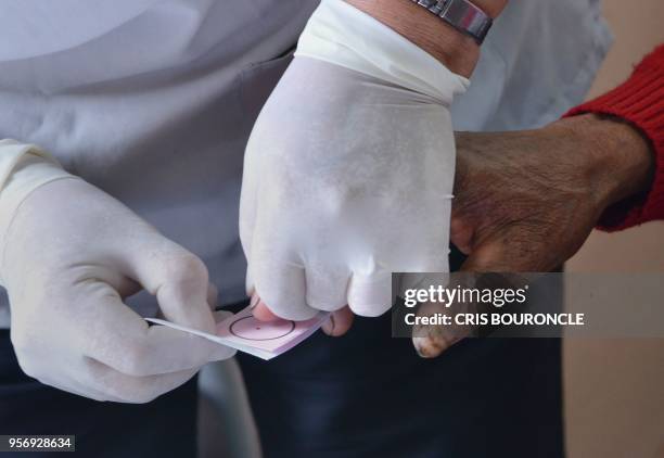
<instances>
[{"instance_id":1,"label":"larger dark trouser section at bottom centre, below the card","mask_svg":"<svg viewBox=\"0 0 664 458\"><path fill-rule=\"evenodd\" d=\"M359 319L273 361L239 357L270 457L561 458L560 341L468 340L420 359Z\"/></svg>"}]
</instances>

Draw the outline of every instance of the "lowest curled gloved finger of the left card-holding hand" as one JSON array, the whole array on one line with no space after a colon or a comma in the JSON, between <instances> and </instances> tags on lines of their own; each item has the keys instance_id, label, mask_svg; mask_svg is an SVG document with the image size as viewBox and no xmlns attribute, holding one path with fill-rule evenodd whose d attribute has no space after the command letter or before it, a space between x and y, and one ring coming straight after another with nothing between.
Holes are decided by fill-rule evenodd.
<instances>
[{"instance_id":1,"label":"lowest curled gloved finger of the left card-holding hand","mask_svg":"<svg viewBox=\"0 0 664 458\"><path fill-rule=\"evenodd\" d=\"M97 392L103 393L108 400L144 404L177 389L196 374L199 368L177 372L133 377L89 358L86 361L87 378Z\"/></svg>"}]
</instances>

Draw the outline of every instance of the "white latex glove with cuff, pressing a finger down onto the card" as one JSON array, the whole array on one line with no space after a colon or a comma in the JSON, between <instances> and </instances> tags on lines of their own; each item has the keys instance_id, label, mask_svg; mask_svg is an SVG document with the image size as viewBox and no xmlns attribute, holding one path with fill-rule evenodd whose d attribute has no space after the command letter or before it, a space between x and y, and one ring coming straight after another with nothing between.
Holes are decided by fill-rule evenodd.
<instances>
[{"instance_id":1,"label":"white latex glove with cuff, pressing a finger down onto the card","mask_svg":"<svg viewBox=\"0 0 664 458\"><path fill-rule=\"evenodd\" d=\"M278 316L378 316L391 272L447 271L468 80L341 0L324 0L252 132L240 234L247 292Z\"/></svg>"}]
</instances>

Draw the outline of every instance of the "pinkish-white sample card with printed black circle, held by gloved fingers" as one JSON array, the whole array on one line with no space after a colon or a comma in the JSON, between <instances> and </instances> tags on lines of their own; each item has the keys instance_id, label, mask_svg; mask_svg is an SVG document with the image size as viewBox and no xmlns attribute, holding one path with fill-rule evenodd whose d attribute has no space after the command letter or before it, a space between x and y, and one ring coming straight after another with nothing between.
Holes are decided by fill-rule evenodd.
<instances>
[{"instance_id":1,"label":"pinkish-white sample card with printed black circle, held by gloved fingers","mask_svg":"<svg viewBox=\"0 0 664 458\"><path fill-rule=\"evenodd\" d=\"M150 322L167 326L180 331L190 332L240 352L248 353L263 359L272 359L288 352L316 332L330 316L321 311L306 321L276 320L258 321L251 308L226 318L217 323L217 333L208 334L195 329L176 325L158 318L145 318Z\"/></svg>"}]
</instances>

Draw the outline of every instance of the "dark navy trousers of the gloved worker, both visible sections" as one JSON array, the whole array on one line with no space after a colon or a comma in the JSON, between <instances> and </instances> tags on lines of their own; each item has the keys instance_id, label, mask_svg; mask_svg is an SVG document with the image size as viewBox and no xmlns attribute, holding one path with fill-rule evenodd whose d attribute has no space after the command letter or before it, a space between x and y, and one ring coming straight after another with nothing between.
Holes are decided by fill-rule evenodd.
<instances>
[{"instance_id":1,"label":"dark navy trousers of the gloved worker, both visible sections","mask_svg":"<svg viewBox=\"0 0 664 458\"><path fill-rule=\"evenodd\" d=\"M467 340L436 359L390 314L266 362L238 357L266 458L561 458L561 345ZM76 434L79 456L193 457L194 382L149 405L97 403L18 368L0 333L0 434ZM27 454L16 454L27 457Z\"/></svg>"}]
</instances>

